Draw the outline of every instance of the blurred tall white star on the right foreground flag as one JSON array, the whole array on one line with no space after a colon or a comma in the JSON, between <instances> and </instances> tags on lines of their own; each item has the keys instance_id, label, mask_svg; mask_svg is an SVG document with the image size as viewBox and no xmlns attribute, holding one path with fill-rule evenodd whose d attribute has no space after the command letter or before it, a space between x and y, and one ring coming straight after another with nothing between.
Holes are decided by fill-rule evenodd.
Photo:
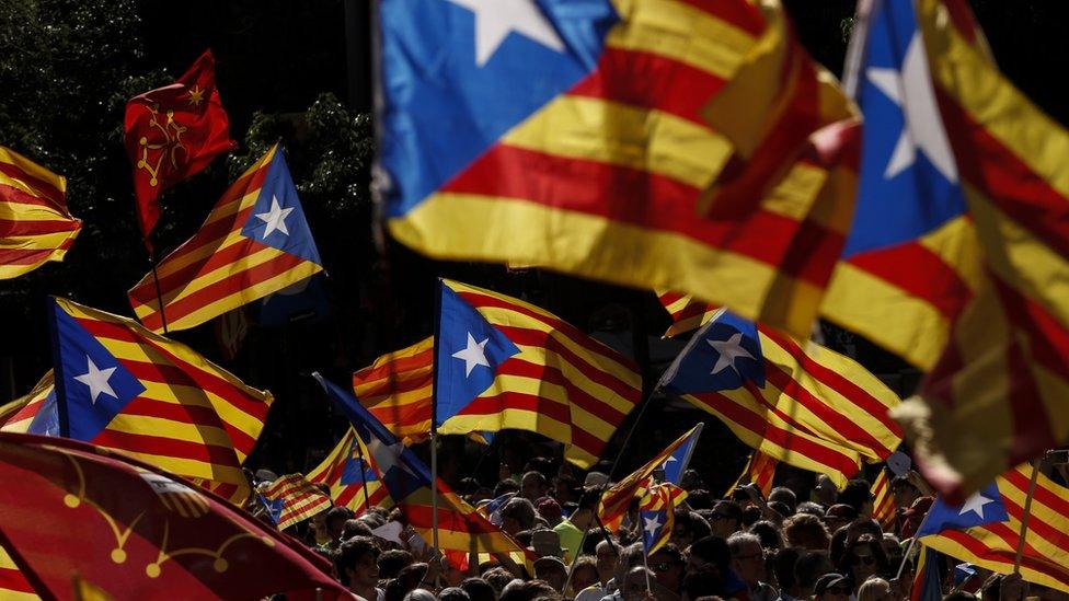
<instances>
[{"instance_id":1,"label":"blurred tall white star on the right foreground flag","mask_svg":"<svg viewBox=\"0 0 1069 601\"><path fill-rule=\"evenodd\" d=\"M887 162L884 178L890 180L909 169L917 159L917 149L920 149L943 177L957 182L957 165L954 164L943 119L939 116L920 32L913 34L909 47L906 48L900 72L872 67L866 74L873 85L901 107L906 117L906 126Z\"/></svg>"}]
</instances>

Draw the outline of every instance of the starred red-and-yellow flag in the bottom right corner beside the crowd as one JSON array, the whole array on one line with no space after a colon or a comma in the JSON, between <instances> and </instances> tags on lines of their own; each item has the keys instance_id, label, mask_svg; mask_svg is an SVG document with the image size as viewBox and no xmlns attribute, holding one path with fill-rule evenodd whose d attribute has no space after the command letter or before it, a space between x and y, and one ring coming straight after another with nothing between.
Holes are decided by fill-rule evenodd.
<instances>
[{"instance_id":1,"label":"starred red-and-yellow flag in the bottom right corner beside the crowd","mask_svg":"<svg viewBox=\"0 0 1069 601\"><path fill-rule=\"evenodd\" d=\"M1028 464L1008 471L997 479L998 495L980 490L957 509L961 512L958 516L953 516L957 519L973 518L981 525L964 530L944 529L920 541L952 557L999 574L1010 574L1021 536L1021 520L1031 478L1032 466ZM1001 499L997 498L999 496ZM989 522L997 518L1000 510L1005 512L1008 519ZM977 518L977 513L984 517ZM985 521L989 523L982 523ZM965 522L965 525L968 523ZM1021 577L1069 592L1069 489L1055 484L1042 473L1036 479L1030 508Z\"/></svg>"}]
</instances>

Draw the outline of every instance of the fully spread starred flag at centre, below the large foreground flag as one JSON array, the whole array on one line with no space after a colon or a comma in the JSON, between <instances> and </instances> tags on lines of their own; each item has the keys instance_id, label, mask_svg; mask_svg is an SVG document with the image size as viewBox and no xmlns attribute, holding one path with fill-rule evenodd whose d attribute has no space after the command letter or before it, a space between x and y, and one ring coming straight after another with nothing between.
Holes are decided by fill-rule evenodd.
<instances>
[{"instance_id":1,"label":"fully spread starred flag at centre, below the large foreground flag","mask_svg":"<svg viewBox=\"0 0 1069 601\"><path fill-rule=\"evenodd\" d=\"M642 395L629 359L548 311L474 286L441 281L436 340L441 434L534 431L589 467Z\"/></svg>"}]
</instances>

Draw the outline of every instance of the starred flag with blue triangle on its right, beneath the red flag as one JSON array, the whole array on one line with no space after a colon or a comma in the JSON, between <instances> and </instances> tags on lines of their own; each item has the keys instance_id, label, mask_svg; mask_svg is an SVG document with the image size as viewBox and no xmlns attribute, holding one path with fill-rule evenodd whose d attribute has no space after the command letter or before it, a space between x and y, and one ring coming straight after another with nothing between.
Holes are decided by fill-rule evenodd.
<instances>
[{"instance_id":1,"label":"starred flag with blue triangle on its right, beneath the red flag","mask_svg":"<svg viewBox=\"0 0 1069 601\"><path fill-rule=\"evenodd\" d=\"M185 330L323 269L278 146L223 193L200 230L129 292L149 330Z\"/></svg>"}]
</instances>

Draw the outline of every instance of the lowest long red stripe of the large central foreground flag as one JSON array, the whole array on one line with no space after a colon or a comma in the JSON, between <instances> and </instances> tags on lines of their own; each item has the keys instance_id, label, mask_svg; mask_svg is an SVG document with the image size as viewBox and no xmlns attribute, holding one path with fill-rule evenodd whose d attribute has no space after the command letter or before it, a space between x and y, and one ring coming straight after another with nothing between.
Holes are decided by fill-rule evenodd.
<instances>
[{"instance_id":1,"label":"lowest long red stripe of the large central foreground flag","mask_svg":"<svg viewBox=\"0 0 1069 601\"><path fill-rule=\"evenodd\" d=\"M844 240L842 234L814 221L798 222L760 207L746 219L701 218L696 212L700 190L664 175L505 145L490 149L442 192L524 199L594 215L683 235L772 266L786 261L793 252L795 236L805 240L827 236L828 244L836 245ZM792 275L823 286L834 264L811 261L798 262L795 267L801 270Z\"/></svg>"}]
</instances>

